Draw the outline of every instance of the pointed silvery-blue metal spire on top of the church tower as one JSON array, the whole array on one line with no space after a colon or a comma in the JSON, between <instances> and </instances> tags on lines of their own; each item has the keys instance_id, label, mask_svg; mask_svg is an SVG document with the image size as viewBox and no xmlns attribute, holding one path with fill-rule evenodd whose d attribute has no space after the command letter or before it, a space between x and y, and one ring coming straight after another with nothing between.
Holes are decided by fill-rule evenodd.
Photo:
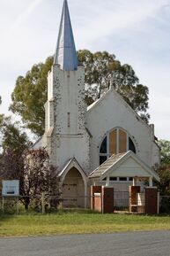
<instances>
[{"instance_id":1,"label":"pointed silvery-blue metal spire on top of the church tower","mask_svg":"<svg viewBox=\"0 0 170 256\"><path fill-rule=\"evenodd\" d=\"M59 64L61 69L65 71L78 69L78 57L70 23L70 13L67 0L63 1L63 12L58 42L56 45L54 64Z\"/></svg>"}]
</instances>

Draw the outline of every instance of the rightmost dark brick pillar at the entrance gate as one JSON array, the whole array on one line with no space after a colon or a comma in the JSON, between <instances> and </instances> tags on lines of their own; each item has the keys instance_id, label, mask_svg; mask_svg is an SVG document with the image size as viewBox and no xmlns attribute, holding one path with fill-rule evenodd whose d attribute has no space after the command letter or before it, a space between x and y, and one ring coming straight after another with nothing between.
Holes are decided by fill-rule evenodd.
<instances>
[{"instance_id":1,"label":"rightmost dark brick pillar at the entrance gate","mask_svg":"<svg viewBox=\"0 0 170 256\"><path fill-rule=\"evenodd\" d=\"M145 188L145 213L158 213L158 189L156 187Z\"/></svg>"}]
</instances>

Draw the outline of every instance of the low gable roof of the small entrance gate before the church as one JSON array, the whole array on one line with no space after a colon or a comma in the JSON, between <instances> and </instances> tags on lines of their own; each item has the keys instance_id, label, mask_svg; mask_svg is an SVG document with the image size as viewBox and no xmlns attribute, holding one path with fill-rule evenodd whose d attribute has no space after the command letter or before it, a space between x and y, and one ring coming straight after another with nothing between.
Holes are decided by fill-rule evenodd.
<instances>
[{"instance_id":1,"label":"low gable roof of the small entrance gate before the church","mask_svg":"<svg viewBox=\"0 0 170 256\"><path fill-rule=\"evenodd\" d=\"M144 174L141 174L139 177L153 177L157 181L159 181L159 175L154 172L150 167L146 166L144 162L137 157L137 155L132 152L128 151L121 154L112 155L109 159L107 159L100 167L97 167L90 175L89 178L100 178L101 180L107 177L107 175L113 175L118 167L121 167L123 163L125 163L128 159L133 159L139 167L144 170ZM134 174L133 174L134 175ZM116 174L117 176L117 174ZM132 176L126 174L126 176ZM137 175L138 176L138 171Z\"/></svg>"}]
</instances>

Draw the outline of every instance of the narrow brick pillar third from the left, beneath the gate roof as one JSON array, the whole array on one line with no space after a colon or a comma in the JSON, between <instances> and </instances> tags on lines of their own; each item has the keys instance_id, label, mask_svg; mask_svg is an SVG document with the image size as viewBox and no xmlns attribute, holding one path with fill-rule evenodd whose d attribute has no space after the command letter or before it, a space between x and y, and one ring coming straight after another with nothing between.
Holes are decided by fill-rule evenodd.
<instances>
[{"instance_id":1,"label":"narrow brick pillar third from the left, beneath the gate roof","mask_svg":"<svg viewBox=\"0 0 170 256\"><path fill-rule=\"evenodd\" d=\"M140 193L140 186L129 186L129 212L137 213L137 193Z\"/></svg>"}]
</instances>

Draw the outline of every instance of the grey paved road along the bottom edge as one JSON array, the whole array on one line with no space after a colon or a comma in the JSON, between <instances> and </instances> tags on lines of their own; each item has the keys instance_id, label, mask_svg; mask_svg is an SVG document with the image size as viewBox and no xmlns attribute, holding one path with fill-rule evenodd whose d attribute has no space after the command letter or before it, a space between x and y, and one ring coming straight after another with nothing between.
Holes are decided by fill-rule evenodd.
<instances>
[{"instance_id":1,"label":"grey paved road along the bottom edge","mask_svg":"<svg viewBox=\"0 0 170 256\"><path fill-rule=\"evenodd\" d=\"M0 256L170 256L170 231L0 239Z\"/></svg>"}]
</instances>

